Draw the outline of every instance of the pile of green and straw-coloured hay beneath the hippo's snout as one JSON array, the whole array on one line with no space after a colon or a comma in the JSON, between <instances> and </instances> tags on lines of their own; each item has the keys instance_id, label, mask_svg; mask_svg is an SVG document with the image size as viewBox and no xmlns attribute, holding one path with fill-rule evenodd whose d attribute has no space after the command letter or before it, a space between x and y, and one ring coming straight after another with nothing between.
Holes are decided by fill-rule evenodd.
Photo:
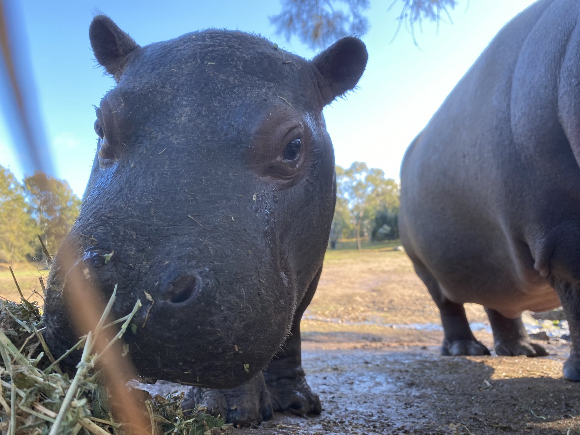
<instances>
[{"instance_id":1,"label":"pile of green and straw-coloured hay beneath the hippo's snout","mask_svg":"<svg viewBox=\"0 0 580 435\"><path fill-rule=\"evenodd\" d=\"M109 303L107 310L111 306ZM122 323L115 340L129 326L139 306L137 301L132 313L113 322ZM107 310L96 331L113 325L104 325ZM50 354L42 330L41 307L36 303L24 298L21 303L0 300L0 432L8 435L130 434L131 427L115 422L111 397L95 369L99 355L92 351L94 333L89 332L70 350L82 349L81 362L71 377L59 366L62 357L55 361ZM204 414L204 408L184 415L180 406L183 393L151 397L146 391L136 392L143 393L139 397L143 409L147 409L151 433L213 435L222 432L223 420Z\"/></svg>"}]
</instances>

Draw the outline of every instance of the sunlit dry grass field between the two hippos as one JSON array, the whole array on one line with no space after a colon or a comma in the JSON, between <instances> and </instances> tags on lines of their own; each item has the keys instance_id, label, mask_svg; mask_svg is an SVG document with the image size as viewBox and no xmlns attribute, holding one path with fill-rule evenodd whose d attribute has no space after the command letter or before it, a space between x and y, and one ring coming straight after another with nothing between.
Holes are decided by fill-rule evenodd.
<instances>
[{"instance_id":1,"label":"sunlit dry grass field between the two hippos","mask_svg":"<svg viewBox=\"0 0 580 435\"><path fill-rule=\"evenodd\" d=\"M367 245L357 251L329 250L316 295L306 312L311 318L377 324L438 323L439 312L398 243ZM481 306L468 305L472 322L487 320Z\"/></svg>"}]
</instances>

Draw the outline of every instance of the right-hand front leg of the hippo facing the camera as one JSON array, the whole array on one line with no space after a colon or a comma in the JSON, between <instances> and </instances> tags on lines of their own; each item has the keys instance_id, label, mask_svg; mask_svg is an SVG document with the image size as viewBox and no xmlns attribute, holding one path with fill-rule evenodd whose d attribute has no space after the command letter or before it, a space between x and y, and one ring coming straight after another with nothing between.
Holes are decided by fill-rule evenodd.
<instances>
[{"instance_id":1,"label":"right-hand front leg of the hippo facing the camera","mask_svg":"<svg viewBox=\"0 0 580 435\"><path fill-rule=\"evenodd\" d=\"M264 371L272 408L277 412L290 411L301 415L321 412L318 394L310 390L302 369L300 341L300 319L316 292L321 271L322 267L310 283L294 314L291 334Z\"/></svg>"}]
</instances>

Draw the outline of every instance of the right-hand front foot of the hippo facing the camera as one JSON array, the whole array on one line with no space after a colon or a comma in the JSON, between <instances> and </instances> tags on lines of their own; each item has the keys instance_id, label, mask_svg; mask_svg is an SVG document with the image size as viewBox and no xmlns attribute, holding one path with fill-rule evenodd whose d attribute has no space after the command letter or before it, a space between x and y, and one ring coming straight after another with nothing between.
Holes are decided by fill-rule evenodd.
<instances>
[{"instance_id":1,"label":"right-hand front foot of the hippo facing the camera","mask_svg":"<svg viewBox=\"0 0 580 435\"><path fill-rule=\"evenodd\" d=\"M293 414L320 414L320 398L310 390L302 367L269 367L264 380L270 393L272 408L276 412L289 411Z\"/></svg>"}]
</instances>

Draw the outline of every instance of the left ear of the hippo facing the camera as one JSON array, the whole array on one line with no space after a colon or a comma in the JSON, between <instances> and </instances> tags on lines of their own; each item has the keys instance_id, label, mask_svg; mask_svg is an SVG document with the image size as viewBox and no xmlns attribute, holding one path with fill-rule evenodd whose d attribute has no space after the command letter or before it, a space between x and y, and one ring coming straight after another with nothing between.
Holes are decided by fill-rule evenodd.
<instances>
[{"instance_id":1,"label":"left ear of the hippo facing the camera","mask_svg":"<svg viewBox=\"0 0 580 435\"><path fill-rule=\"evenodd\" d=\"M106 15L93 18L89 38L97 62L119 81L126 57L139 45Z\"/></svg>"}]
</instances>

